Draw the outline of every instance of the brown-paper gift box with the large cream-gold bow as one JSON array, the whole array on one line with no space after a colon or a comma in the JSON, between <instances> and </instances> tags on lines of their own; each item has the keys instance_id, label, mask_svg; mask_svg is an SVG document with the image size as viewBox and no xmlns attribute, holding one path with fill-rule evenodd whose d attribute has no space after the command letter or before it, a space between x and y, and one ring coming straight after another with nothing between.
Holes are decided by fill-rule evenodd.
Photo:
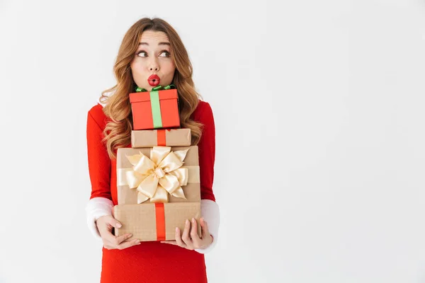
<instances>
[{"instance_id":1,"label":"brown-paper gift box with the large cream-gold bow","mask_svg":"<svg viewBox=\"0 0 425 283\"><path fill-rule=\"evenodd\" d=\"M200 202L198 146L120 148L116 165L118 204Z\"/></svg>"}]
</instances>

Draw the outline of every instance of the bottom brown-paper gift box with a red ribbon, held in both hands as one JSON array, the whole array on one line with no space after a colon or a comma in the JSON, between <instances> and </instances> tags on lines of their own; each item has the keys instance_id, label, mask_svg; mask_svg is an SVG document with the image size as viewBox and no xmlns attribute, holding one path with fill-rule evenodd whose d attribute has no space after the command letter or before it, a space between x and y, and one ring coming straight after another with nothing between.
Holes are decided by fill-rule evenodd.
<instances>
[{"instance_id":1,"label":"bottom brown-paper gift box with a red ribbon, held in both hands","mask_svg":"<svg viewBox=\"0 0 425 283\"><path fill-rule=\"evenodd\" d=\"M115 236L132 233L130 239L140 241L174 240L176 227L182 233L186 219L192 218L196 219L198 236L201 236L200 202L118 204L113 207L113 216L123 224L115 228Z\"/></svg>"}]
</instances>

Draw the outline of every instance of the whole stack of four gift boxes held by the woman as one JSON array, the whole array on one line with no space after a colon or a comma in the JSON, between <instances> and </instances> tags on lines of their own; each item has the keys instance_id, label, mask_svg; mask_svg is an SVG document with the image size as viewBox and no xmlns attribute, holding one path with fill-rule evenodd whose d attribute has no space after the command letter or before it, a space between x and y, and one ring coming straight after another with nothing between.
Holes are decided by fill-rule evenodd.
<instances>
[{"instance_id":1,"label":"whole stack of four gift boxes held by the woman","mask_svg":"<svg viewBox=\"0 0 425 283\"><path fill-rule=\"evenodd\" d=\"M176 227L183 231L192 218L200 236L198 146L191 146L191 129L180 126L177 90L170 85L136 91L130 93L132 147L117 152L113 215L123 226L115 236L174 240Z\"/></svg>"}]
</instances>

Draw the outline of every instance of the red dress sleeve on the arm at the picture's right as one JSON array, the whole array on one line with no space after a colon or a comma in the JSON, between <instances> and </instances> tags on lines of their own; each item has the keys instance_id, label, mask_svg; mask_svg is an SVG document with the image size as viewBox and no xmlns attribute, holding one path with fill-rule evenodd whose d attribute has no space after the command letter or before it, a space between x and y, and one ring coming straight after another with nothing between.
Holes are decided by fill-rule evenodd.
<instances>
[{"instance_id":1,"label":"red dress sleeve on the arm at the picture's right","mask_svg":"<svg viewBox=\"0 0 425 283\"><path fill-rule=\"evenodd\" d=\"M209 103L205 103L198 122L203 123L202 136L198 142L200 198L215 202L214 192L212 192L215 162L215 124Z\"/></svg>"}]
</instances>

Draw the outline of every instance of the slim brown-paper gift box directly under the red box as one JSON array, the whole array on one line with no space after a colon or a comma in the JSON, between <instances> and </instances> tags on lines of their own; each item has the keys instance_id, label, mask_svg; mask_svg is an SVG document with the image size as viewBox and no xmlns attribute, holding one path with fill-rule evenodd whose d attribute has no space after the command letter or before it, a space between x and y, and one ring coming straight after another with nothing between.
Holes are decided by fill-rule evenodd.
<instances>
[{"instance_id":1,"label":"slim brown-paper gift box directly under the red box","mask_svg":"<svg viewBox=\"0 0 425 283\"><path fill-rule=\"evenodd\" d=\"M131 131L131 147L190 146L191 129L142 129Z\"/></svg>"}]
</instances>

